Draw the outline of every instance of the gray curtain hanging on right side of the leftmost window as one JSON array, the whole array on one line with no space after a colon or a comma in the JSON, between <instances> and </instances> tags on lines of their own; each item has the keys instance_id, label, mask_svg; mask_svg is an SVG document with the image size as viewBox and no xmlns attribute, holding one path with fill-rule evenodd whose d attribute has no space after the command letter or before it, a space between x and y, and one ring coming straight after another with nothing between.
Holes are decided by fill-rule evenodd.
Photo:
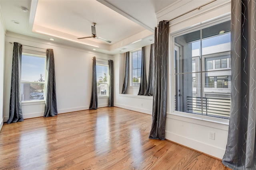
<instances>
[{"instance_id":1,"label":"gray curtain hanging on right side of the leftmost window","mask_svg":"<svg viewBox=\"0 0 256 170\"><path fill-rule=\"evenodd\" d=\"M48 72L48 76L46 82L46 104L44 117L52 117L58 115L53 49L46 50L46 70Z\"/></svg>"}]
</instances>

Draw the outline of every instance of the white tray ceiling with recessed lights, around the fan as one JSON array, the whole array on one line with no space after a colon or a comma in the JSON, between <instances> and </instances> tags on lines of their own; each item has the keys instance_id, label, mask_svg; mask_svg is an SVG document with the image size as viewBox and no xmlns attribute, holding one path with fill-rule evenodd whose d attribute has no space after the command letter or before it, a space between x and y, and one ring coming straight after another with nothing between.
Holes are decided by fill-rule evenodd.
<instances>
[{"instance_id":1,"label":"white tray ceiling with recessed lights, around the fan","mask_svg":"<svg viewBox=\"0 0 256 170\"><path fill-rule=\"evenodd\" d=\"M115 54L149 45L154 41L156 12L176 0L0 0L7 33ZM28 8L23 12L21 7ZM12 20L20 22L13 23ZM98 37L91 35L96 22ZM139 40L139 41L138 41ZM137 43L134 43L138 41Z\"/></svg>"}]
</instances>

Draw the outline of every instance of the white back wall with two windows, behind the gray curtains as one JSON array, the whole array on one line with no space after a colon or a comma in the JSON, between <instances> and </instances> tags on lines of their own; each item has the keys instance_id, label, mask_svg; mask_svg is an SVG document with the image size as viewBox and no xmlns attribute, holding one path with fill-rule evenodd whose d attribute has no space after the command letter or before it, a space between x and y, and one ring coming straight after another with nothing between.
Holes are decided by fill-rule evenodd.
<instances>
[{"instance_id":1,"label":"white back wall with two windows, behind the gray curtains","mask_svg":"<svg viewBox=\"0 0 256 170\"><path fill-rule=\"evenodd\" d=\"M92 86L92 57L112 59L112 55L86 51L56 43L8 34L5 41L5 77L4 77L4 121L9 116L10 80L12 69L13 44L18 42L54 51L56 94L58 113L67 113L89 109ZM32 49L23 46L23 49ZM34 48L34 50L39 50ZM107 62L107 61L106 61ZM98 107L108 106L108 98L98 98ZM44 114L44 102L22 103L24 119L40 117Z\"/></svg>"}]
</instances>

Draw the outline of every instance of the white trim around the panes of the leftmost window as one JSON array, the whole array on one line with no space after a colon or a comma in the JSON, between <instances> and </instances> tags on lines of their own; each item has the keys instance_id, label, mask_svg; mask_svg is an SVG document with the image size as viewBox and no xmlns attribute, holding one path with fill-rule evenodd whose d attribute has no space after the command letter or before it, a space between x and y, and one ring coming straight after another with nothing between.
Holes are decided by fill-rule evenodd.
<instances>
[{"instance_id":1,"label":"white trim around the panes of the leftmost window","mask_svg":"<svg viewBox=\"0 0 256 170\"><path fill-rule=\"evenodd\" d=\"M26 106L26 105L34 105L34 104L40 104L41 102L45 103L45 90L46 90L46 80L47 80L47 70L46 70L46 55L37 55L37 54L32 54L32 53L22 53L22 55L27 55L27 56L32 56L32 57L40 57L40 58L44 58L44 82L27 82L27 81L21 81L21 83L38 83L38 84L44 84L44 100L26 100L26 101L21 101L22 106Z\"/></svg>"}]
</instances>

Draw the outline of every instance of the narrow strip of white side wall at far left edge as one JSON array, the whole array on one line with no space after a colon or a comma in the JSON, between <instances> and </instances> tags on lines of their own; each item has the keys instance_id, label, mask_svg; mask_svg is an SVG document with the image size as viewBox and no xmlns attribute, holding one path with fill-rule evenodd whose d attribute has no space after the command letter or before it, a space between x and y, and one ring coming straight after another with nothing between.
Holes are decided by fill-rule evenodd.
<instances>
[{"instance_id":1,"label":"narrow strip of white side wall at far left edge","mask_svg":"<svg viewBox=\"0 0 256 170\"><path fill-rule=\"evenodd\" d=\"M3 101L4 101L4 41L5 41L5 30L3 25L3 19L0 9L0 129L4 124L4 112L3 112Z\"/></svg>"}]
</instances>

